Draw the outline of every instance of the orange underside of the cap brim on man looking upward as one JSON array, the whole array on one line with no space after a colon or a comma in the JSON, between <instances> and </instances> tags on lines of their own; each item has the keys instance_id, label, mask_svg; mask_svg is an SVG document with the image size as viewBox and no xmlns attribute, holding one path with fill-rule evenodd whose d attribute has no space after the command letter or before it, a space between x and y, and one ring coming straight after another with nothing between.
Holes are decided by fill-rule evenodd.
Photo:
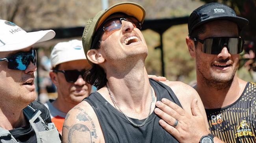
<instances>
[{"instance_id":1,"label":"orange underside of the cap brim on man looking upward","mask_svg":"<svg viewBox=\"0 0 256 143\"><path fill-rule=\"evenodd\" d=\"M137 18L141 24L143 24L145 19L145 9L134 2L121 2L119 4L112 5L108 9L101 14L100 18L98 18L97 27L95 31L100 27L100 25L113 13L126 13L130 16L134 16Z\"/></svg>"}]
</instances>

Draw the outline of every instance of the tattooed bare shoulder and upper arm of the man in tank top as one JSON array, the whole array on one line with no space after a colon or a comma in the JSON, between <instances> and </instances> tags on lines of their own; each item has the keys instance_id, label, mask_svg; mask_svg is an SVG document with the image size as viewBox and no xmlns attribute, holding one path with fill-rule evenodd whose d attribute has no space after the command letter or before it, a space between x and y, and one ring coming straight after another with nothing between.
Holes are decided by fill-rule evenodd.
<instances>
[{"instance_id":1,"label":"tattooed bare shoulder and upper arm of the man in tank top","mask_svg":"<svg viewBox=\"0 0 256 143\"><path fill-rule=\"evenodd\" d=\"M71 109L62 129L63 143L104 143L98 118L89 103L82 101Z\"/></svg>"}]
</instances>

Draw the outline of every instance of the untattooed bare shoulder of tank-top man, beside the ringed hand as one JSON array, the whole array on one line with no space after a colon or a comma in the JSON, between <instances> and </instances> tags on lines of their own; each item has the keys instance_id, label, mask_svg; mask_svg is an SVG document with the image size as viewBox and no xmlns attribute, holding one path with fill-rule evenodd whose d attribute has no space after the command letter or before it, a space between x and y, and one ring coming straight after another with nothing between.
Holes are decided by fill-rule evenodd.
<instances>
[{"instance_id":1,"label":"untattooed bare shoulder of tank-top man, beside the ringed hand","mask_svg":"<svg viewBox=\"0 0 256 143\"><path fill-rule=\"evenodd\" d=\"M173 90L178 100L180 101L183 109L191 111L191 101L194 98L197 98L198 106L204 110L202 101L197 91L193 89L193 87L180 81L164 81L163 83L165 85L168 85Z\"/></svg>"}]
</instances>

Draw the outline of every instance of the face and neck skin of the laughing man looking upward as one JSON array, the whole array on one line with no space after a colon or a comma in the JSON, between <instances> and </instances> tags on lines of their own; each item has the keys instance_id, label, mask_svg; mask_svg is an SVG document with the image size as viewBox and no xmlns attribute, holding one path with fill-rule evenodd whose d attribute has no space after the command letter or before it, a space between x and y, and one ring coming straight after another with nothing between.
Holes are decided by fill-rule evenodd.
<instances>
[{"instance_id":1,"label":"face and neck skin of the laughing man looking upward","mask_svg":"<svg viewBox=\"0 0 256 143\"><path fill-rule=\"evenodd\" d=\"M110 16L108 19L120 17L124 17L124 15L115 14L113 16ZM137 36L139 42L125 45L124 40L130 36ZM138 86L136 86L134 88L136 90L139 89L138 91L134 92L127 90L127 93L130 93L131 95L135 93L138 95L140 94L139 92L141 92L141 94L148 93L148 81L141 80L145 78L144 75L147 75L145 74L146 71L144 67L144 62L148 54L147 44L141 31L138 28L135 28L131 22L122 20L121 29L114 30L111 33L104 33L102 35L101 46L104 48L98 49L98 52L100 52L100 54L102 54L102 57L104 57L104 62L100 63L100 66L105 69L107 78L109 81L111 81L110 83L118 82L115 84L122 87L113 88L113 85L109 85L109 87L113 89L112 92L124 92L123 87L132 85L132 83L129 82L137 82L138 84L141 84L141 86L145 87L145 90L141 90L141 88L138 88ZM143 78L141 76L143 76ZM131 79L134 79L134 81L132 81ZM102 90L99 90L99 92L101 91ZM109 98L108 92L106 92L106 94L105 92L106 91L104 89L104 94L102 94L102 96L105 96L109 103L112 103L111 99ZM119 100L119 98L121 99ZM148 106L146 106L150 104L150 100L147 99L147 96L115 96L115 99L119 100L119 104L121 105L123 105L122 102L124 102L124 104L126 105L126 101L129 101L130 104L128 104L127 107L122 107L122 109L124 110L124 112L127 112L128 116L131 117L134 116L134 113L129 112L131 109L134 110L132 106L136 106L135 111L137 110L138 112L140 112L140 110L149 110ZM141 104L141 100L145 101L145 103ZM143 112L140 116L134 116L134 118L144 119L147 117L147 115L148 113Z\"/></svg>"}]
</instances>

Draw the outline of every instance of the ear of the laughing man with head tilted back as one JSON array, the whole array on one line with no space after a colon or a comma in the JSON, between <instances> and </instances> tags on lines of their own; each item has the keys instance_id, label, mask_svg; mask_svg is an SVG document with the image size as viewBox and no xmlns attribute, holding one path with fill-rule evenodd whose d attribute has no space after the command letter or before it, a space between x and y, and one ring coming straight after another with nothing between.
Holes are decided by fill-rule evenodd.
<instances>
[{"instance_id":1,"label":"ear of the laughing man with head tilted back","mask_svg":"<svg viewBox=\"0 0 256 143\"><path fill-rule=\"evenodd\" d=\"M103 58L100 51L98 51L96 49L89 50L87 52L87 58L88 58L88 60L90 60L92 63L95 63L95 64L100 64L105 61L105 59Z\"/></svg>"}]
</instances>

